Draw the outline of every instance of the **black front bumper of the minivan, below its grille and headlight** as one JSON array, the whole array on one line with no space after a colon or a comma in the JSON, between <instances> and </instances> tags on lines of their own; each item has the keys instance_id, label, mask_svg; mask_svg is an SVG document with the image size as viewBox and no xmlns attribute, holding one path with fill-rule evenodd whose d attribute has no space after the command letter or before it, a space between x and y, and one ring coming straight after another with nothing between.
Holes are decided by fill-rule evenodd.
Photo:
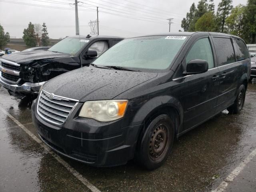
<instances>
[{"instance_id":1,"label":"black front bumper of the minivan, below its grille and headlight","mask_svg":"<svg viewBox=\"0 0 256 192\"><path fill-rule=\"evenodd\" d=\"M124 126L118 121L94 122L86 118L68 120L68 125L54 126L40 118L36 102L32 120L41 140L52 150L92 166L117 166L134 158L140 125ZM90 123L93 122L93 123ZM106 134L112 131L112 134Z\"/></svg>"}]
</instances>

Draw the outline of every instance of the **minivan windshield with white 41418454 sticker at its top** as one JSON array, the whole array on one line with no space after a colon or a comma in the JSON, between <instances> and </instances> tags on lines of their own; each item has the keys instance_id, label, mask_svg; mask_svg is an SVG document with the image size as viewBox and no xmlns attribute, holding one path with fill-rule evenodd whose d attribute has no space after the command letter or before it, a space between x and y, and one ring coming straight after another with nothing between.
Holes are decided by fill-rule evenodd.
<instances>
[{"instance_id":1,"label":"minivan windshield with white 41418454 sticker at its top","mask_svg":"<svg viewBox=\"0 0 256 192\"><path fill-rule=\"evenodd\" d=\"M186 39L186 36L146 36L125 39L102 54L93 64L102 67L163 70L170 66Z\"/></svg>"}]
</instances>

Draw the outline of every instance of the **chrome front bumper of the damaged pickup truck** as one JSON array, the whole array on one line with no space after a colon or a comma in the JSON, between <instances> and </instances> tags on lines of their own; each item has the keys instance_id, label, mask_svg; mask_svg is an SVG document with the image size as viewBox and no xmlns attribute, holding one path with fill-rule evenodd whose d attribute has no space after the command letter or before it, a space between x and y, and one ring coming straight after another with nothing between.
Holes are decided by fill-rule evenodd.
<instances>
[{"instance_id":1,"label":"chrome front bumper of the damaged pickup truck","mask_svg":"<svg viewBox=\"0 0 256 192\"><path fill-rule=\"evenodd\" d=\"M2 78L0 78L0 84L2 85L2 89L7 91L10 95L17 97L17 98L24 98L26 95L29 94L38 94L40 87L45 82L39 83L24 83L22 85L17 84L9 84L5 82Z\"/></svg>"}]
</instances>

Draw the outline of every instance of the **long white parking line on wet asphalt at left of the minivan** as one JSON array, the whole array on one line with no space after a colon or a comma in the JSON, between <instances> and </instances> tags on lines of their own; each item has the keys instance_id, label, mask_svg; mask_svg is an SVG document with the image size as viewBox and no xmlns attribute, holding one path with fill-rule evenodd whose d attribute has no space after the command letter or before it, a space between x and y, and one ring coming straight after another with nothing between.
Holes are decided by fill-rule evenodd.
<instances>
[{"instance_id":1,"label":"long white parking line on wet asphalt at left of the minivan","mask_svg":"<svg viewBox=\"0 0 256 192\"><path fill-rule=\"evenodd\" d=\"M16 118L14 118L11 114L6 112L2 107L0 110L6 114L9 118L11 118L24 132L26 132L32 139L34 139L38 144L40 144L49 154L51 154L60 164L62 164L74 177L76 177L80 182L82 182L88 189L92 192L101 192L96 188L93 184L91 184L86 178L84 178L79 172L77 172L74 168L72 168L66 161L64 161L60 156L54 153L48 146L46 146L40 139L38 139L30 130L28 130L24 125L22 125Z\"/></svg>"}]
</instances>

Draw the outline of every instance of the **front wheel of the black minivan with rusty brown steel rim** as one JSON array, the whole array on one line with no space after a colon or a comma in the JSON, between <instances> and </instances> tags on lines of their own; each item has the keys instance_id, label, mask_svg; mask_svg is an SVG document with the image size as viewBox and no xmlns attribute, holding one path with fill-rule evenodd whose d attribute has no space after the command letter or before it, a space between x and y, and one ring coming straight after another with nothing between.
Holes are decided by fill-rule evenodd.
<instances>
[{"instance_id":1,"label":"front wheel of the black minivan with rusty brown steel rim","mask_svg":"<svg viewBox=\"0 0 256 192\"><path fill-rule=\"evenodd\" d=\"M160 167L174 142L174 122L166 114L154 118L141 136L136 152L136 161L148 170Z\"/></svg>"}]
</instances>

